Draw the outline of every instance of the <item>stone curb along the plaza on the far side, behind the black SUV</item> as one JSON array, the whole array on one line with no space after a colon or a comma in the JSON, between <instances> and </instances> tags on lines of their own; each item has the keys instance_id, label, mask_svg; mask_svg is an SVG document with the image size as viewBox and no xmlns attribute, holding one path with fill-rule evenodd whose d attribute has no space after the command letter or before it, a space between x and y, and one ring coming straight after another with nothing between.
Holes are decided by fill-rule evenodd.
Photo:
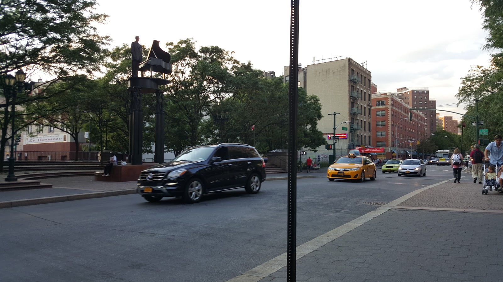
<instances>
[{"instance_id":1,"label":"stone curb along the plaza on the far side, behind the black SUV","mask_svg":"<svg viewBox=\"0 0 503 282\"><path fill-rule=\"evenodd\" d=\"M299 179L299 178L314 178L314 177L319 177L319 176L314 176L314 175L313 176L307 176L307 175L306 176L297 176L297 179ZM272 177L269 179L266 178L266 181L286 180L286 179L288 179L288 177ZM67 202L67 201L76 201L76 200L85 200L85 199L95 199L95 198L112 197L112 196L122 196L122 195L130 195L130 194L136 194L136 188L106 191L106 192L93 192L93 193L84 193L84 194L73 194L73 195L64 195L64 196L53 196L53 197L4 201L4 202L0 202L0 209L21 207L21 206L40 205L40 204L49 204L49 203L59 203L59 202Z\"/></svg>"}]
</instances>

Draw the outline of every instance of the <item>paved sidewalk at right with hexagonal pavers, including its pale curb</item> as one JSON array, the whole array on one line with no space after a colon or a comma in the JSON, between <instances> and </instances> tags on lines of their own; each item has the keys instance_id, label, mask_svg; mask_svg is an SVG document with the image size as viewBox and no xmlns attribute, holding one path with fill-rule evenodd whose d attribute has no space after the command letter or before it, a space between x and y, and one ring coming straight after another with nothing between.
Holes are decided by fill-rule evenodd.
<instances>
[{"instance_id":1,"label":"paved sidewalk at right with hexagonal pavers, including its pale curb","mask_svg":"<svg viewBox=\"0 0 503 282\"><path fill-rule=\"evenodd\" d=\"M297 281L502 281L503 194L418 189L297 247ZM286 254L228 282L286 281Z\"/></svg>"}]
</instances>

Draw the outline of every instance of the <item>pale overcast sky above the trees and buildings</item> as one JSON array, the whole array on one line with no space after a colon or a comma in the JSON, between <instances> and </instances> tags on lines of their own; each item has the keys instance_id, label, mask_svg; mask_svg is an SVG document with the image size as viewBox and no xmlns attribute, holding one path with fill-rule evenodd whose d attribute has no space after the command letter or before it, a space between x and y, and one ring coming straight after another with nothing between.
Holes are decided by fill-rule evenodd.
<instances>
[{"instance_id":1,"label":"pale overcast sky above the trees and buildings","mask_svg":"<svg viewBox=\"0 0 503 282\"><path fill-rule=\"evenodd\" d=\"M289 64L290 1L97 1L98 12L109 15L99 32L113 46L136 35L147 48L152 40L164 47L194 38L276 75ZM472 66L489 62L481 14L470 6L470 0L300 1L299 63L351 57L367 62L379 91L429 87L439 108L464 113L463 105L441 105L456 102L460 78Z\"/></svg>"}]
</instances>

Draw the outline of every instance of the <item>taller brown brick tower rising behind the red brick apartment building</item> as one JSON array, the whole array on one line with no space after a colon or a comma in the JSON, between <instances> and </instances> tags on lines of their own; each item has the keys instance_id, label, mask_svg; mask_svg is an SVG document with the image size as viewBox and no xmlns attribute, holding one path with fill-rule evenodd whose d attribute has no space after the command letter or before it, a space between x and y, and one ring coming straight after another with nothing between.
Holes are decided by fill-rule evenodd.
<instances>
[{"instance_id":1,"label":"taller brown brick tower rising behind the red brick apartment building","mask_svg":"<svg viewBox=\"0 0 503 282\"><path fill-rule=\"evenodd\" d=\"M424 110L434 109L437 106L437 101L431 98L428 87L400 87L394 94L410 108L417 109L426 116L427 132L431 134L437 130L436 111Z\"/></svg>"}]
</instances>

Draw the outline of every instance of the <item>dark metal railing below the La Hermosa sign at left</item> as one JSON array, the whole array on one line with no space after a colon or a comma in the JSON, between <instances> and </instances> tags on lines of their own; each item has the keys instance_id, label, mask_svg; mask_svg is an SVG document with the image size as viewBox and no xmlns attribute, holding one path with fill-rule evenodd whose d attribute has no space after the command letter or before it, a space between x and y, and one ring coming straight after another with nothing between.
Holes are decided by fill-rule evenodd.
<instances>
[{"instance_id":1,"label":"dark metal railing below the La Hermosa sign at left","mask_svg":"<svg viewBox=\"0 0 503 282\"><path fill-rule=\"evenodd\" d=\"M78 161L98 161L99 152L82 152L77 155ZM49 151L18 151L17 161L75 161L75 152L49 152Z\"/></svg>"}]
</instances>

